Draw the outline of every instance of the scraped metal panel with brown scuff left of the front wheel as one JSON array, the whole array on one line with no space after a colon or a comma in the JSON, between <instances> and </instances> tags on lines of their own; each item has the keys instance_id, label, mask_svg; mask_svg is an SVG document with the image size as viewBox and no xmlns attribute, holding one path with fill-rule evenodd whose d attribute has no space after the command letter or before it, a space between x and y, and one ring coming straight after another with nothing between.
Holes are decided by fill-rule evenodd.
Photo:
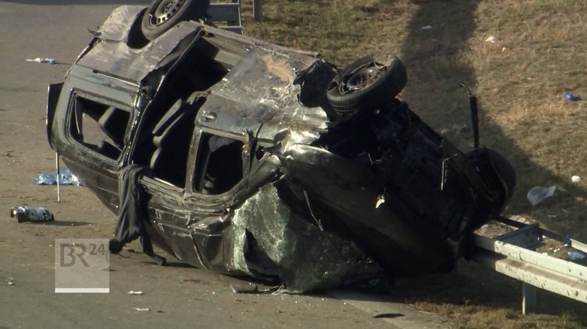
<instances>
[{"instance_id":1,"label":"scraped metal panel with brown scuff left of the front wheel","mask_svg":"<svg viewBox=\"0 0 587 329\"><path fill-rule=\"evenodd\" d=\"M316 126L326 128L326 115L320 108L299 104L300 86L292 84L296 72L316 60L305 54L279 53L262 47L249 50L230 73L211 88L198 114L198 123L239 133L247 121L261 124L272 121L272 126L299 131L311 129L312 140L318 138ZM218 114L218 118L214 121L203 118L210 112Z\"/></svg>"}]
</instances>

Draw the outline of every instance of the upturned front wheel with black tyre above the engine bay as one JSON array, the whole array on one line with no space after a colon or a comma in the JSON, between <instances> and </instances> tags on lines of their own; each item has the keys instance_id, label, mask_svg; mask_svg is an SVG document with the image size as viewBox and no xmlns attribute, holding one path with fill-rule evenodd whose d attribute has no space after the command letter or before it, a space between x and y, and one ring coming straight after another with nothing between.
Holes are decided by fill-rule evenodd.
<instances>
[{"instance_id":1,"label":"upturned front wheel with black tyre above the engine bay","mask_svg":"<svg viewBox=\"0 0 587 329\"><path fill-rule=\"evenodd\" d=\"M363 57L340 71L326 97L339 115L346 116L392 101L406 83L406 68L397 56Z\"/></svg>"}]
</instances>

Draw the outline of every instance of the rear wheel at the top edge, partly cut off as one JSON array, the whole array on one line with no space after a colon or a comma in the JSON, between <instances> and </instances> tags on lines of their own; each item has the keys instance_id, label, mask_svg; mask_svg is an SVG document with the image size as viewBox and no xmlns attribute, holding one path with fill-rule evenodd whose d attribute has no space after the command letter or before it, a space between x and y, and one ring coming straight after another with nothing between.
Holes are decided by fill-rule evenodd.
<instances>
[{"instance_id":1,"label":"rear wheel at the top edge, partly cut off","mask_svg":"<svg viewBox=\"0 0 587 329\"><path fill-rule=\"evenodd\" d=\"M143 35L153 41L182 20L203 18L209 3L204 0L154 0L143 15Z\"/></svg>"}]
</instances>

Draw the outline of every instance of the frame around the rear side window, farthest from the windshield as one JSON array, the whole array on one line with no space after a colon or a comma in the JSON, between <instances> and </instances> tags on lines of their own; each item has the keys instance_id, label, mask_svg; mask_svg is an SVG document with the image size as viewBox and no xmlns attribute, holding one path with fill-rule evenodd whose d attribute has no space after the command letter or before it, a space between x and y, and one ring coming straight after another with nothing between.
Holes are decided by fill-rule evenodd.
<instances>
[{"instance_id":1,"label":"frame around the rear side window, farthest from the windshield","mask_svg":"<svg viewBox=\"0 0 587 329\"><path fill-rule=\"evenodd\" d=\"M122 140L122 144L121 146L121 150L120 150L120 155L116 158L113 159L112 157L109 157L107 155L104 155L103 153L97 152L96 150L93 150L92 148L87 147L86 145L84 145L82 142L80 142L78 139L75 138L75 136L72 135L72 125L76 125L77 124L77 119L74 122L73 117L75 116L75 111L76 111L76 105L77 105L77 98L81 97L87 101L92 101L92 102L96 102L100 105L104 105L107 107L115 107L117 109L120 109L121 111L125 111L129 113L129 121L127 122L126 126L125 126L125 132L124 132L124 138ZM80 91L80 90L72 90L70 97L69 97L69 102L68 102L68 111L66 114L66 121L65 121L65 132L66 132L66 138L68 138L69 140L71 140L73 143L75 143L75 145L78 145L81 149L83 149L85 152L88 152L96 157L101 157L102 159L104 159L106 162L112 163L112 164L118 164L120 162L123 161L123 158L126 154L126 150L129 146L129 128L132 124L132 122L135 119L135 114L132 111L132 109L130 107L128 107L127 105L124 105L122 103L113 101L113 100L107 100L103 97L98 97L97 95L92 95L89 92L84 92L84 91ZM82 127L83 129L83 127ZM104 132L104 135L107 135L106 132Z\"/></svg>"}]
</instances>

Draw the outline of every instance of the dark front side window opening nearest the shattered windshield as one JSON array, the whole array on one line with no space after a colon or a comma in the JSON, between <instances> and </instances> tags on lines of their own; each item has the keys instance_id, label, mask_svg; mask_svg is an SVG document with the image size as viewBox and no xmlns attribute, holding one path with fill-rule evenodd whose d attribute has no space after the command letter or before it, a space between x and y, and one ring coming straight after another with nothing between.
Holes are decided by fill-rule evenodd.
<instances>
[{"instance_id":1,"label":"dark front side window opening nearest the shattered windshield","mask_svg":"<svg viewBox=\"0 0 587 329\"><path fill-rule=\"evenodd\" d=\"M217 195L230 191L244 178L244 142L210 133L200 138L194 191Z\"/></svg>"}]
</instances>

